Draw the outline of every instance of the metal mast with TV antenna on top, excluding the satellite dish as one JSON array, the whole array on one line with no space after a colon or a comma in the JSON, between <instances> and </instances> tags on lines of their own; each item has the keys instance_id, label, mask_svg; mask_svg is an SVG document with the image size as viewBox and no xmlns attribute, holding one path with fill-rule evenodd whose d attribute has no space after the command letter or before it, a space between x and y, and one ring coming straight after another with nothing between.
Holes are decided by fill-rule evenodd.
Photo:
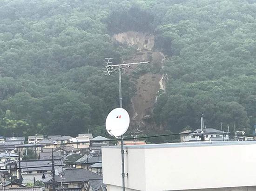
<instances>
[{"instance_id":1,"label":"metal mast with TV antenna on top, excluding the satellite dish","mask_svg":"<svg viewBox=\"0 0 256 191\"><path fill-rule=\"evenodd\" d=\"M113 58L105 58L107 61L104 61L105 64L103 72L106 72L106 76L113 76L113 73L118 70L118 79L119 79L119 107L122 108L122 79L121 79L121 70L127 69L130 65L135 64L148 64L150 62L137 62L137 63L128 63L128 64L112 64ZM124 173L124 150L123 150L123 136L121 135L121 161L122 161L122 191L125 191L125 173Z\"/></svg>"}]
</instances>

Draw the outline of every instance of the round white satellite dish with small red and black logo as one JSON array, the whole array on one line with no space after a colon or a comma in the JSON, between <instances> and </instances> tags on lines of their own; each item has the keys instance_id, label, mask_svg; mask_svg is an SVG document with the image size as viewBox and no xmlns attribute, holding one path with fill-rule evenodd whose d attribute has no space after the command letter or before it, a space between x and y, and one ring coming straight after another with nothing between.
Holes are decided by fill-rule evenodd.
<instances>
[{"instance_id":1,"label":"round white satellite dish with small red and black logo","mask_svg":"<svg viewBox=\"0 0 256 191\"><path fill-rule=\"evenodd\" d=\"M108 134L113 137L120 137L123 135L130 124L130 116L123 108L113 109L106 119L106 129Z\"/></svg>"}]
</instances>

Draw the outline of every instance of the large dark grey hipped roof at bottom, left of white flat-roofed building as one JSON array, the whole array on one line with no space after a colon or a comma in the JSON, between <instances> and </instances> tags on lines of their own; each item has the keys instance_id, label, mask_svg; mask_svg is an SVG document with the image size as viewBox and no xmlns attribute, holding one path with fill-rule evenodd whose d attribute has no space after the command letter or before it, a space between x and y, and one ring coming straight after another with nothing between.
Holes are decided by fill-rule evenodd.
<instances>
[{"instance_id":1,"label":"large dark grey hipped roof at bottom, left of white flat-roofed building","mask_svg":"<svg viewBox=\"0 0 256 191\"><path fill-rule=\"evenodd\" d=\"M62 178L60 177L62 175ZM59 176L55 176L55 181L57 183L68 183L68 182L81 182L81 181L89 181L91 179L102 179L102 176L88 171L86 169L65 169L63 172L59 173ZM44 183L51 183L52 177L45 178L41 180Z\"/></svg>"}]
</instances>

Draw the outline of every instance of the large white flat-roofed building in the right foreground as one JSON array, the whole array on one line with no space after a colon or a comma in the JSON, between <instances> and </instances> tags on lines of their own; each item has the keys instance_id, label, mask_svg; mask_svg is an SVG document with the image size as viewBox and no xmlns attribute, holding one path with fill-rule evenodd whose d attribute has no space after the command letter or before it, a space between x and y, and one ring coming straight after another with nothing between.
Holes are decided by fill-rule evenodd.
<instances>
[{"instance_id":1,"label":"large white flat-roofed building in the right foreground","mask_svg":"<svg viewBox=\"0 0 256 191\"><path fill-rule=\"evenodd\" d=\"M124 146L126 191L255 191L256 142ZM103 183L121 191L121 146L102 147ZM200 189L200 190L199 190Z\"/></svg>"}]
</instances>

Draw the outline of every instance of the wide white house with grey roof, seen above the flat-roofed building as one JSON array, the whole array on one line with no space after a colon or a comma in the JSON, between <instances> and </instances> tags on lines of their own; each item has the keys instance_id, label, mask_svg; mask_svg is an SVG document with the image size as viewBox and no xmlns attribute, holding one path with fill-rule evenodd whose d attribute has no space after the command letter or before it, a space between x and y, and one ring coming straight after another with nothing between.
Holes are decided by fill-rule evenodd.
<instances>
[{"instance_id":1,"label":"wide white house with grey roof, seen above the flat-roofed building","mask_svg":"<svg viewBox=\"0 0 256 191\"><path fill-rule=\"evenodd\" d=\"M214 128L204 128L203 133L205 141L229 140L229 133ZM180 134L181 142L201 141L201 129L196 129L195 131L186 130Z\"/></svg>"}]
</instances>

